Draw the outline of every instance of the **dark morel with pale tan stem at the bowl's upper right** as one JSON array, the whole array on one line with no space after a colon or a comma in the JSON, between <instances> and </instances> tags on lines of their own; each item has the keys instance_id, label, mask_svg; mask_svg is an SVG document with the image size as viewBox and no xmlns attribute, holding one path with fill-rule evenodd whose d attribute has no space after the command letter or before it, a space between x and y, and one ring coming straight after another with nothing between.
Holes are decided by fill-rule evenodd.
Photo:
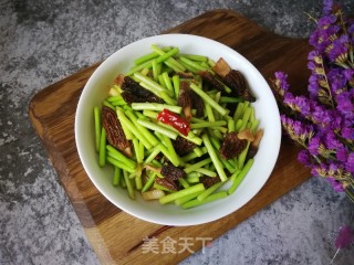
<instances>
[{"instance_id":1,"label":"dark morel with pale tan stem at the bowl's upper right","mask_svg":"<svg viewBox=\"0 0 354 265\"><path fill-rule=\"evenodd\" d=\"M218 60L212 70L237 96L240 96L248 102L256 102L256 97L252 95L242 73L232 70L222 57Z\"/></svg>"}]
</instances>

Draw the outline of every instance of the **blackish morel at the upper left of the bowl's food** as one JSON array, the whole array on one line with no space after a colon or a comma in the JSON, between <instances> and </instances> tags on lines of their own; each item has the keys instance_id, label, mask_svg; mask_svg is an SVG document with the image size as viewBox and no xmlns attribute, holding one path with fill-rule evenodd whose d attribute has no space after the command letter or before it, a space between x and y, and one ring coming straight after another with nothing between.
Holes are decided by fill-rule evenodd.
<instances>
[{"instance_id":1,"label":"blackish morel at the upper left of the bowl's food","mask_svg":"<svg viewBox=\"0 0 354 265\"><path fill-rule=\"evenodd\" d=\"M118 77L116 80L119 80ZM163 103L163 99L145 89L129 76L124 76L121 85L123 93L122 97L128 104L132 103Z\"/></svg>"}]
</instances>

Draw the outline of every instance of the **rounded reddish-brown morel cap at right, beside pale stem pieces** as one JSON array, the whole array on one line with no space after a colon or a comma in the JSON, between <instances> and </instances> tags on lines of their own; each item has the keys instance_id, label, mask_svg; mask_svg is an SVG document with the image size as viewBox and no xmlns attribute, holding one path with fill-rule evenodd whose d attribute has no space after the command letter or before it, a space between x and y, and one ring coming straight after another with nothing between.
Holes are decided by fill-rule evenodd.
<instances>
[{"instance_id":1,"label":"rounded reddish-brown morel cap at right, beside pale stem pieces","mask_svg":"<svg viewBox=\"0 0 354 265\"><path fill-rule=\"evenodd\" d=\"M247 142L246 139L239 139L235 131L227 134L220 147L221 157L225 159L235 158L247 147Z\"/></svg>"}]
</instances>

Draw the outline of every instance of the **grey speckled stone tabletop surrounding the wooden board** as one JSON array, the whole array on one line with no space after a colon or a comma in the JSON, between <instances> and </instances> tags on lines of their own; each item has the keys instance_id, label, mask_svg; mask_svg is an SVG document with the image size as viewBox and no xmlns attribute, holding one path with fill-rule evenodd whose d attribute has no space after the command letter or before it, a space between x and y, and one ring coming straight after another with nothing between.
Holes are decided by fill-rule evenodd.
<instances>
[{"instance_id":1,"label":"grey speckled stone tabletop surrounding the wooden board","mask_svg":"<svg viewBox=\"0 0 354 265\"><path fill-rule=\"evenodd\" d=\"M212 9L308 36L320 0L0 0L0 264L100 264L73 212L28 106L33 95L133 41ZM343 0L354 10L352 0ZM329 264L354 206L312 178L181 264ZM354 248L334 264L353 264Z\"/></svg>"}]
</instances>

